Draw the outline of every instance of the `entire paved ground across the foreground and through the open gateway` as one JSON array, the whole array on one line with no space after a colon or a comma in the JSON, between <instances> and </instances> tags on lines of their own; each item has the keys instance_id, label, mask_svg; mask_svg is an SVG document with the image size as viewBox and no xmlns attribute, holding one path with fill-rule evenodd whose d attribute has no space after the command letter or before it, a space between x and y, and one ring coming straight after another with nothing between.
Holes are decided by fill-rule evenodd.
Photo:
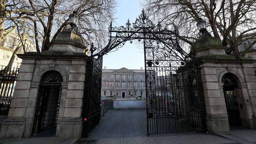
<instances>
[{"instance_id":1,"label":"entire paved ground across the foreground and through the open gateway","mask_svg":"<svg viewBox=\"0 0 256 144\"><path fill-rule=\"evenodd\" d=\"M230 132L208 133L167 133L146 136L145 109L108 110L100 124L88 138L44 137L50 132L43 132L20 140L0 140L0 144L238 144L256 143L256 130L231 125ZM49 130L50 131L50 130ZM38 133L40 134L40 133ZM52 134L51 134L52 135Z\"/></svg>"}]
</instances>

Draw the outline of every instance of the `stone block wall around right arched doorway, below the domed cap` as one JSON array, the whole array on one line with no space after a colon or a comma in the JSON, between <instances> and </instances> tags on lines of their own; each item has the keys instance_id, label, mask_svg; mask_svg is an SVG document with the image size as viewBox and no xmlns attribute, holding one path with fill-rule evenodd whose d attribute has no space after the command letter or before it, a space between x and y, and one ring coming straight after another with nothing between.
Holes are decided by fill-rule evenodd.
<instances>
[{"instance_id":1,"label":"stone block wall around right arched doorway, below the domed cap","mask_svg":"<svg viewBox=\"0 0 256 144\"><path fill-rule=\"evenodd\" d=\"M229 131L228 114L221 78L226 73L236 76L238 87L236 99L242 108L239 113L242 125L255 128L254 115L256 113L256 76L252 67L252 60L242 58L236 60L233 56L203 56L199 58L198 67L201 68L201 80L206 108L206 125L209 132Z\"/></svg>"}]
</instances>

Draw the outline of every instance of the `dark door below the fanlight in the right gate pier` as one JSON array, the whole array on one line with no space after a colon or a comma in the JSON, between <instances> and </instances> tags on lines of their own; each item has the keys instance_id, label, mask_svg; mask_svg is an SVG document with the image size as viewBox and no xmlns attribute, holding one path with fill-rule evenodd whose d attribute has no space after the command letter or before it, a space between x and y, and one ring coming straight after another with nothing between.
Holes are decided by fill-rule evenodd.
<instances>
[{"instance_id":1,"label":"dark door below the fanlight in the right gate pier","mask_svg":"<svg viewBox=\"0 0 256 144\"><path fill-rule=\"evenodd\" d=\"M224 88L223 91L229 123L242 125L234 88Z\"/></svg>"}]
</instances>

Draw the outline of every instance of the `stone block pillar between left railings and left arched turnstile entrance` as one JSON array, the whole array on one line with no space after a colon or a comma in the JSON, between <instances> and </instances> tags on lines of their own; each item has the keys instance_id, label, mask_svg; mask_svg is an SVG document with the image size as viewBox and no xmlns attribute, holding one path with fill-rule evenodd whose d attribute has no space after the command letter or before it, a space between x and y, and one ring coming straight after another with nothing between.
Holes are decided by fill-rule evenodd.
<instances>
[{"instance_id":1,"label":"stone block pillar between left railings and left arched turnstile entrance","mask_svg":"<svg viewBox=\"0 0 256 144\"><path fill-rule=\"evenodd\" d=\"M32 60L23 60L19 69L17 82L15 85L11 108L8 118L3 121L0 139L20 139L23 137L25 124L31 124L35 105L33 95L29 94L31 88L31 80L34 72L34 62ZM37 91L32 88L32 92ZM26 118L28 120L26 121Z\"/></svg>"}]
</instances>

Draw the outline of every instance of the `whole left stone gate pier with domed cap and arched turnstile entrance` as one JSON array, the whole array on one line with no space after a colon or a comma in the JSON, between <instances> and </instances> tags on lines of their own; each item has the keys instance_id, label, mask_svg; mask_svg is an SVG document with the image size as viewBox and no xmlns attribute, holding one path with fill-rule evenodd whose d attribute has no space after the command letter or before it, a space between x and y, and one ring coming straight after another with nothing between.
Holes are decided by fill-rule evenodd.
<instances>
[{"instance_id":1,"label":"whole left stone gate pier with domed cap and arched turnstile entrance","mask_svg":"<svg viewBox=\"0 0 256 144\"><path fill-rule=\"evenodd\" d=\"M42 54L18 55L22 63L1 139L29 137L52 127L57 137L81 137L88 50L72 31L60 32L48 47Z\"/></svg>"}]
</instances>

